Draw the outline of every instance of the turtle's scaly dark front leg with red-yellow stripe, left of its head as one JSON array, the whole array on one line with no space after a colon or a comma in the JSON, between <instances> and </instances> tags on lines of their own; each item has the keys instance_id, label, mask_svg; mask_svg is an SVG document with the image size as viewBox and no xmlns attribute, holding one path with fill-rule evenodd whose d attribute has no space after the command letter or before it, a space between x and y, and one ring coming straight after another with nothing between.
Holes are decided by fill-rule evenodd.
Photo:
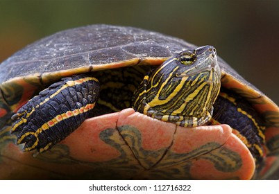
<instances>
[{"instance_id":1,"label":"turtle's scaly dark front leg with red-yellow stripe, left of its head","mask_svg":"<svg viewBox=\"0 0 279 194\"><path fill-rule=\"evenodd\" d=\"M24 151L48 150L89 117L99 90L99 81L88 75L63 78L44 89L12 116L17 143L25 143Z\"/></svg>"}]
</instances>

